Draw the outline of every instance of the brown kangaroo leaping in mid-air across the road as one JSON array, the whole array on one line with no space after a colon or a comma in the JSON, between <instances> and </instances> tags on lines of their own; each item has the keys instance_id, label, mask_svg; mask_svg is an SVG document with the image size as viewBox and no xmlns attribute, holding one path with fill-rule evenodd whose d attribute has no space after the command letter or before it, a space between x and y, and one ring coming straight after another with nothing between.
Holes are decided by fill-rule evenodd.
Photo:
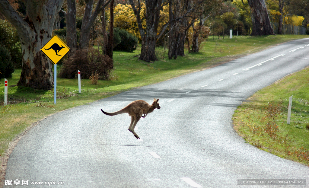
<instances>
[{"instance_id":1,"label":"brown kangaroo leaping in mid-air across the road","mask_svg":"<svg viewBox=\"0 0 309 188\"><path fill-rule=\"evenodd\" d=\"M114 113L107 113L104 112L102 109L101 111L109 116L114 116L118 115L121 113L129 113L129 116L131 116L131 123L129 126L129 131L133 133L135 138L140 139L139 136L136 134L134 131L134 128L137 124L137 122L141 119L141 117L146 117L148 113L151 113L154 111L154 109L160 109L161 107L159 106L158 103L159 99L154 99L152 105L149 105L146 101L144 100L135 100L131 102L129 105L127 105L125 108L114 112ZM144 114L144 116L142 116Z\"/></svg>"}]
</instances>

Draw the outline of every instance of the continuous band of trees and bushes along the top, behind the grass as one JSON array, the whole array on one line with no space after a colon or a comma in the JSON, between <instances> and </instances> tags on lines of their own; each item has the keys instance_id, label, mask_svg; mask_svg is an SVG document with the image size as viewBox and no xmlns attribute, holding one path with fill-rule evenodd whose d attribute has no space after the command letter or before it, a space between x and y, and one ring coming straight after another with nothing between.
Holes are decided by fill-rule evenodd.
<instances>
[{"instance_id":1,"label":"continuous band of trees and bushes along the top, behind the grass","mask_svg":"<svg viewBox=\"0 0 309 188\"><path fill-rule=\"evenodd\" d=\"M70 47L68 59L97 45L103 54L91 53L112 69L113 49L133 51L139 42L139 59L153 62L158 60L156 46L168 38L168 58L176 59L185 55L186 46L198 52L204 38L226 29L274 35L271 22L278 23L278 34L287 23L307 28L308 10L309 0L0 0L0 45L12 64L22 68L19 86L48 90L53 87L52 66L40 49L53 33ZM8 23L12 27L3 26ZM54 23L60 29L55 30Z\"/></svg>"}]
</instances>

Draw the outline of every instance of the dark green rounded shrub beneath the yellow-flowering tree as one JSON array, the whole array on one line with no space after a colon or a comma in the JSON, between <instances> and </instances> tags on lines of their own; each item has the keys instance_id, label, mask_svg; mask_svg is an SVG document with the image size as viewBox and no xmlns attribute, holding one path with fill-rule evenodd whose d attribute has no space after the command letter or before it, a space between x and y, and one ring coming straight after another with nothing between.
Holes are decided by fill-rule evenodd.
<instances>
[{"instance_id":1,"label":"dark green rounded shrub beneath the yellow-flowering tree","mask_svg":"<svg viewBox=\"0 0 309 188\"><path fill-rule=\"evenodd\" d=\"M115 29L114 33L118 33L121 37L121 43L118 44L114 50L133 52L136 50L138 44L138 38L124 29Z\"/></svg>"}]
</instances>

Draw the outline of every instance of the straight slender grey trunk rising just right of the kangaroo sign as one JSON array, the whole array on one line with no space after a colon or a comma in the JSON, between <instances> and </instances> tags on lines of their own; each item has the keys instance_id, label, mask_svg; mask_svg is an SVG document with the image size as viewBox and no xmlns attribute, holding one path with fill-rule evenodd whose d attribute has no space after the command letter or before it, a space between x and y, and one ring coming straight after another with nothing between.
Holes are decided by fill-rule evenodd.
<instances>
[{"instance_id":1,"label":"straight slender grey trunk rising just right of the kangaroo sign","mask_svg":"<svg viewBox=\"0 0 309 188\"><path fill-rule=\"evenodd\" d=\"M76 5L75 1L67 0L66 13L66 45L71 49L68 57L73 55L78 47L76 37Z\"/></svg>"}]
</instances>

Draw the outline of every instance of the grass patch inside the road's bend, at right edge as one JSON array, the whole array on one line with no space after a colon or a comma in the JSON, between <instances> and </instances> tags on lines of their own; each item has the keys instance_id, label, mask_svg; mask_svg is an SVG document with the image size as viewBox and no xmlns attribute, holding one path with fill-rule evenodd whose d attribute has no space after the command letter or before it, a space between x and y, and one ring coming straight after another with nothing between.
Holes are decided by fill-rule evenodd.
<instances>
[{"instance_id":1,"label":"grass patch inside the road's bend, at right edge","mask_svg":"<svg viewBox=\"0 0 309 188\"><path fill-rule=\"evenodd\" d=\"M233 115L234 127L250 144L277 156L309 165L309 67L256 92ZM289 97L293 95L291 121L287 124ZM282 102L275 123L277 136L266 128L269 103ZM275 110L272 110L274 112ZM270 121L271 122L271 121Z\"/></svg>"}]
</instances>

